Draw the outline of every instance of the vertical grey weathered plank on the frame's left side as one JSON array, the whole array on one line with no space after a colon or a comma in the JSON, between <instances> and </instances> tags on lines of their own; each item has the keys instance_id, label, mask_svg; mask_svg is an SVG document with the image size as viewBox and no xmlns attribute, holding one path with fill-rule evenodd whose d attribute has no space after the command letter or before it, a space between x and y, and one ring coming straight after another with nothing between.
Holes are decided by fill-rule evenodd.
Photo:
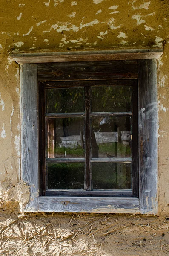
<instances>
[{"instance_id":1,"label":"vertical grey weathered plank on the frame's left side","mask_svg":"<svg viewBox=\"0 0 169 256\"><path fill-rule=\"evenodd\" d=\"M30 201L25 211L38 210L39 162L37 116L37 65L20 66L21 87L21 168L22 179L30 186Z\"/></svg>"}]
</instances>

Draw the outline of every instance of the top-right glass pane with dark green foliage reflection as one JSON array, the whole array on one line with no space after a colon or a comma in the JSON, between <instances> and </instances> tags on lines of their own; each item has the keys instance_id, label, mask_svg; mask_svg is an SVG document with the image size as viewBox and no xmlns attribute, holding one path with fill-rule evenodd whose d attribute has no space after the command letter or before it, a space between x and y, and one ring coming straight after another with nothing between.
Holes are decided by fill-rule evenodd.
<instances>
[{"instance_id":1,"label":"top-right glass pane with dark green foliage reflection","mask_svg":"<svg viewBox=\"0 0 169 256\"><path fill-rule=\"evenodd\" d=\"M132 111L131 86L92 87L92 112Z\"/></svg>"}]
</instances>

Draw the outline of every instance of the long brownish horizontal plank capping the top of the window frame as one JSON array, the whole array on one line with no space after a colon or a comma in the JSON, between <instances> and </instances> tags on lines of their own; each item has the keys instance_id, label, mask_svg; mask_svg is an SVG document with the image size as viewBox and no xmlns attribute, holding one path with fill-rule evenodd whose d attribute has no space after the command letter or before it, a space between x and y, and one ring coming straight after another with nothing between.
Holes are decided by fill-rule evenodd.
<instances>
[{"instance_id":1,"label":"long brownish horizontal plank capping the top of the window frame","mask_svg":"<svg viewBox=\"0 0 169 256\"><path fill-rule=\"evenodd\" d=\"M126 49L106 51L77 51L77 52L46 52L11 54L10 57L18 64L47 63L65 61L108 61L132 59L157 59L163 49Z\"/></svg>"}]
</instances>

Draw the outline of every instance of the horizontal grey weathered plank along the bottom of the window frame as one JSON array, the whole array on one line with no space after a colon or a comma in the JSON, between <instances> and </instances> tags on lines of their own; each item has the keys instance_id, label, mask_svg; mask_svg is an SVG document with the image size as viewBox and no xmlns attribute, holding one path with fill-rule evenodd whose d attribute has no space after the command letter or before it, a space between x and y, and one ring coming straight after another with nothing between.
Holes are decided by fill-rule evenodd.
<instances>
[{"instance_id":1,"label":"horizontal grey weathered plank along the bottom of the window frame","mask_svg":"<svg viewBox=\"0 0 169 256\"><path fill-rule=\"evenodd\" d=\"M138 198L39 197L42 212L139 213Z\"/></svg>"}]
</instances>

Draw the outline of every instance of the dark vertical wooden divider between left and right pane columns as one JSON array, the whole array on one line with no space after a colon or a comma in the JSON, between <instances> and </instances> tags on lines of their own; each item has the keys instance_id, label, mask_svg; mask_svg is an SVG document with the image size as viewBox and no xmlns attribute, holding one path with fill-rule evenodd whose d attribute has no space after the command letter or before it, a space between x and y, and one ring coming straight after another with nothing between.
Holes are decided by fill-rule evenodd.
<instances>
[{"instance_id":1,"label":"dark vertical wooden divider between left and right pane columns","mask_svg":"<svg viewBox=\"0 0 169 256\"><path fill-rule=\"evenodd\" d=\"M90 135L90 109L91 109L91 87L85 87L85 147L86 147L86 168L85 168L85 189L91 190L91 135Z\"/></svg>"}]
</instances>

